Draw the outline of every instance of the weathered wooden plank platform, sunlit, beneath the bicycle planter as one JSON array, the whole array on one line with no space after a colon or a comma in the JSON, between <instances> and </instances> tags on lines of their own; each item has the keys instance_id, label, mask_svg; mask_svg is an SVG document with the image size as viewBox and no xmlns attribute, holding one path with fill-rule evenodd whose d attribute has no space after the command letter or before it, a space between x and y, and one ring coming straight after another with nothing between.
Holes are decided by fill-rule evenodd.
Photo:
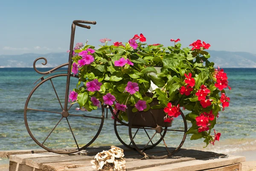
<instances>
[{"instance_id":1,"label":"weathered wooden plank platform, sunlit, beneath the bicycle planter","mask_svg":"<svg viewBox=\"0 0 256 171\"><path fill-rule=\"evenodd\" d=\"M241 171L245 157L213 152L180 149L167 159L142 159L136 151L124 146L127 171ZM109 146L91 147L75 154L54 154L44 150L0 151L0 157L9 157L9 171L94 171L90 160ZM155 147L147 153L165 151ZM17 154L15 154L17 153Z\"/></svg>"}]
</instances>

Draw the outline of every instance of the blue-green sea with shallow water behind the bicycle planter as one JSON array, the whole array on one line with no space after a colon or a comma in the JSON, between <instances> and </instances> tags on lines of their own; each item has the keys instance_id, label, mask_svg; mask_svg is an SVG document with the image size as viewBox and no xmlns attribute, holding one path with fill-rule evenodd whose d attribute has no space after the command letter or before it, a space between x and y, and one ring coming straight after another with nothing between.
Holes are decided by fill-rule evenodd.
<instances>
[{"instance_id":1,"label":"blue-green sea with shallow water behind the bicycle planter","mask_svg":"<svg viewBox=\"0 0 256 171\"><path fill-rule=\"evenodd\" d=\"M40 68L39 70L45 72L50 69ZM191 134L189 134L182 148L224 154L256 150L256 68L224 68L224 72L227 73L232 90L226 89L226 95L230 97L230 106L220 112L215 125L216 132L221 133L220 141L215 142L214 146L208 145L204 148L203 139L190 140ZM60 71L50 75L59 73L64 72ZM41 149L26 129L24 106L29 93L37 84L40 84L41 79L39 78L42 76L33 68L0 68L0 151ZM87 112L76 110L78 104L73 104L70 107L71 103L69 103L69 112L78 115L67 117L71 130L67 119L61 119L60 113L62 111L61 105L64 107L66 79L65 76L60 76L52 78L52 82L50 80L45 81L35 90L28 101L28 107L35 109L26 111L29 131L39 142L45 140L44 145L48 148L76 148L71 130L79 147L84 146L94 139L100 127L101 108ZM38 82L34 84L37 80ZM77 78L71 79L70 82L70 90L76 88ZM61 105L52 85L55 87ZM186 114L188 111L184 110L183 113ZM82 115L99 118L88 118ZM47 138L58 122L59 124ZM191 123L188 122L188 126L190 127ZM123 125L116 127L120 138L129 144L128 127ZM173 128L184 129L184 122L181 117L173 121ZM136 130L132 131L134 133ZM150 131L147 132L149 136L154 133ZM182 138L182 132L169 131L165 135L166 142L169 143L170 147L177 147ZM160 137L155 136L154 139L157 142ZM138 144L143 144L148 142L148 136L144 130L140 130L134 140ZM114 120L111 119L110 111L108 111L108 118L105 117L99 136L91 143L91 146L100 145L121 145L114 131ZM7 162L6 159L0 159L0 164L5 162Z\"/></svg>"}]
</instances>

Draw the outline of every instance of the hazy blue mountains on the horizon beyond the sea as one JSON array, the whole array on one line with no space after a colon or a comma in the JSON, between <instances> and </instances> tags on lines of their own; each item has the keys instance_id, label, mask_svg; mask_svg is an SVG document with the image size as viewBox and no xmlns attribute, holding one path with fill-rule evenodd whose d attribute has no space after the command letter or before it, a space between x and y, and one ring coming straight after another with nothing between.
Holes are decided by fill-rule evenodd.
<instances>
[{"instance_id":1,"label":"hazy blue mountains on the horizon beyond the sea","mask_svg":"<svg viewBox=\"0 0 256 171\"><path fill-rule=\"evenodd\" d=\"M215 66L222 68L256 68L256 54L248 52L228 52L208 50L211 55L210 61ZM44 60L37 62L37 67L56 67L68 62L68 53L35 54L26 53L22 55L0 55L0 68L5 67L33 67L33 62L38 57L47 58L47 65L42 65Z\"/></svg>"}]
</instances>

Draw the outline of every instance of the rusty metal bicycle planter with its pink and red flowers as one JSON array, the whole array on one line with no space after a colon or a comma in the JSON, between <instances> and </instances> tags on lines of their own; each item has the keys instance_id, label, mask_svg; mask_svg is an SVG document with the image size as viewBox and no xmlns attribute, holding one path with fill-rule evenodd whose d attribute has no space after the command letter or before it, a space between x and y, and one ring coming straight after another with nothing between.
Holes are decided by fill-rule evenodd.
<instances>
[{"instance_id":1,"label":"rusty metal bicycle planter with its pink and red flowers","mask_svg":"<svg viewBox=\"0 0 256 171\"><path fill-rule=\"evenodd\" d=\"M140 38L140 41L145 41L145 37L141 34L140 36L134 35L134 38L130 39L129 44L126 44L126 47L122 45L122 42L114 43L115 46L117 47L124 46L124 48L115 48L115 46L114 47L106 46L105 44L105 46L103 46L101 49L105 52L105 54L103 54L101 51L96 49L90 49L90 52L89 52L89 49L88 51L86 51L81 49L80 45L77 45L79 50L76 50L76 53L79 53L79 55L73 56L73 44L74 44L76 26L90 29L90 26L87 26L84 24L96 24L96 22L84 21L84 20L73 21L72 28L71 28L70 53L69 53L69 60L67 63L61 64L60 66L55 67L52 70L49 70L47 72L40 72L36 68L36 62L38 60L43 59L45 62L42 64L46 65L47 59L44 57L40 57L34 61L33 67L35 71L44 76L38 79L38 81L41 80L41 82L39 82L35 86L35 88L29 94L28 99L26 100L26 104L24 107L24 120L25 120L26 129L28 130L29 135L40 147L46 149L47 151L58 153L58 154L70 154L70 153L75 153L75 152L86 149L99 136L99 133L101 132L102 126L104 123L105 113L106 113L106 118L108 118L108 110L110 110L111 114L113 115L114 130L119 141L126 147L137 150L144 157L149 157L151 159L161 159L165 157L170 157L172 154L174 154L181 148L181 146L183 145L186 139L187 133L193 133L197 135L196 138L193 138L194 136L193 135L191 139L198 139L198 137L199 138L203 137L207 139L206 141L207 145L209 144L209 142L213 142L213 143L215 142L215 139L217 139L216 133L215 133L215 137L213 138L212 136L210 136L210 133L209 134L207 133L207 130L210 131L216 123L216 117L218 115L218 111L221 110L221 108L219 107L219 104L221 102L223 103L224 101L223 99L222 101L219 99L224 97L224 95L222 93L222 96L220 98L218 96L218 93L220 92L220 90L217 90L216 87L214 87L216 75L215 76L212 76L212 75L216 71L213 68L213 66L205 67L203 65L196 64L198 63L199 59L201 60L204 59L206 60L206 62L209 62L207 61L207 58L209 58L208 56L207 58L206 57L202 58L199 55L199 54L204 54L204 55L207 54L207 52L203 51L206 46L200 45L201 49L198 51L191 51L190 49L185 49L184 51L182 51L180 50L180 46L181 46L180 44L175 46L169 46L168 49L167 48L161 49L160 47L162 47L163 45L160 45L160 44L148 45L147 47L148 49L146 48L144 49L144 47L142 47L142 45L144 44L140 44L139 45L140 49L143 49L143 52L138 52L135 50L138 47L138 44L136 43L135 40ZM108 39L105 38L103 42L105 41L108 41ZM89 47L91 46L87 45L86 47L84 47L84 49ZM167 50L169 50L169 52L167 52ZM148 56L146 52L151 52L151 51L152 51L152 55ZM94 58L92 55L90 55L90 53L94 53L94 52L98 54L95 56L95 60L97 64L95 63L90 66L90 64L94 61ZM99 56L100 54L102 55L102 57ZM81 57L82 55L84 55L83 58ZM128 58L127 56L129 55L130 57ZM127 59L123 58L122 56L124 56ZM196 58L196 61L194 62L193 59L195 58ZM84 61L82 61L82 59ZM181 61L180 64L178 64L177 61L175 60ZM148 64L154 64L154 66L153 65L152 67L149 65L147 66L146 65L147 61L149 61ZM132 62L136 63L136 65L134 65ZM84 70L81 73L79 73L79 76L78 76L76 74L78 73L79 69L77 68L76 63L81 65L80 66L81 68L84 66L85 66L85 69L88 69L88 70L93 70L97 68L97 71L94 73L93 72L89 73L87 72L87 70ZM163 65L163 69L160 70L161 73L157 72L157 70L154 69L154 67L159 65ZM67 70L58 70L65 66L68 66ZM88 68L86 68L87 66ZM138 66L141 68L138 69L137 68ZM191 70L191 72L193 72L193 74L195 75L195 79L197 80L196 86L195 86L195 79L192 78L192 73L189 72L188 75L186 75L184 66L187 67L186 68L187 73ZM197 67L196 71L192 69L194 66ZM136 68L136 70L133 68ZM109 75L107 75L107 73L105 74L105 71L109 72ZM57 72L66 72L66 73L57 74ZM73 72L73 74L71 74L71 72ZM159 78L154 75L149 75L148 73L150 72L154 72L159 76ZM222 71L218 70L218 72L222 72ZM54 75L50 75L50 74L54 74ZM87 75L84 75L84 74L87 74ZM204 74L204 76L202 76L202 74ZM55 81L56 82L59 81L60 78L66 79L64 106L62 106L61 98L59 98L58 90L55 86L56 85ZM74 99L76 100L76 102L79 103L81 110L88 110L88 111L96 110L98 107L97 103L100 103L99 106L101 106L101 113L98 116L96 116L96 114L94 115L94 112L92 111L87 112L86 114L79 114L79 113L73 113L70 110L74 104L74 103L69 104L69 97L70 97L69 90L70 90L70 83L72 83L72 81L70 80L75 79L76 82L78 82L77 78L79 78L79 85L81 82L84 82L84 86L78 87L77 85L76 91L80 93L81 96L79 95L78 97L77 96L78 93L73 91L72 93L74 95ZM99 81L97 78L101 80ZM108 83L108 80L113 82L118 82L122 80L122 78L125 78L126 82L121 81L120 84L114 85L114 86ZM140 84L143 84L143 85L140 85L143 89L143 91L141 92L139 91L138 84L137 83L134 84L134 82L132 82L132 81L136 81L137 79L139 80L139 78L141 81ZM208 78L208 80L206 78ZM104 84L102 84L101 81L102 83L104 82ZM161 89L157 88L154 90L155 93L151 93L150 95L148 95L146 92L150 90L149 89L150 81L153 81L157 87L162 87L162 88ZM50 87L52 87L52 89L54 90L55 98L58 99L58 104L56 105L56 106L59 106L58 111L47 110L47 107L43 109L36 109L36 108L29 107L29 105L33 103L33 101L31 100L32 96L36 96L35 94L39 92L39 90L41 89L41 87L43 87L44 84L49 84ZM207 89L204 84L210 87L210 90ZM137 87L134 88L133 87L134 85L135 87L136 86ZM127 86L128 88L125 86ZM116 89L115 87L118 87L118 88ZM113 97L110 93L107 92L107 90L108 92L115 94L116 97L118 96L121 96L121 97L120 98L118 97L119 100L116 100L116 98L114 98L115 100L113 100L112 102L108 101L108 100L111 100L111 98ZM199 96L197 95L197 93L200 91L201 92L204 91L203 102L202 100L200 101ZM214 98L218 99L218 101L217 100L213 101L209 99L211 96L210 92L214 92L213 93ZM107 94L108 96L105 95L106 93L108 93ZM143 94L144 97L142 96L141 93ZM167 93L169 93L169 95L167 95ZM104 95L105 97L103 97L102 99L102 96ZM131 99L130 95L133 97L133 99ZM93 103L92 99L89 102L89 100L87 100L88 97L94 98L94 100L96 100L96 104ZM226 98L225 102L228 102L229 98L227 98L227 96L225 96L225 98ZM72 101L74 99L72 99ZM98 99L100 99L100 102ZM123 107L125 107L126 109L116 110L118 108L116 106L115 106L116 109L113 109L113 106L114 106L113 102L116 101L116 104L119 104L119 103L121 104L120 99L122 99L122 101L126 101L125 104L127 104L128 100L130 101L128 102L127 107L126 105L123 105ZM140 99L144 101L142 102ZM172 105L171 103L169 103L169 101L178 102L177 107L176 105ZM139 102L141 103L139 104ZM138 107L138 105L141 105L141 107ZM185 107L187 110L190 110L192 112L185 117L183 112L180 110L179 105ZM227 103L223 106L227 107ZM36 123L30 124L28 122L29 115L32 115L33 117L36 118L38 115L42 116L43 114L41 113L55 113L56 115L58 115L56 116L58 118L57 123L55 124L55 126L51 128L51 130L49 130L49 133L47 133L47 136L43 140L41 139L41 137L38 138L38 133L40 132L40 129L33 130L33 131L31 130L31 125L36 125ZM122 116L123 114L125 114L125 116ZM126 114L127 114L128 121L125 122L124 120L122 120L122 118L125 118ZM173 118L174 117L176 118L179 115L181 116L182 120L177 121L175 119L173 121ZM46 119L51 120L51 117L49 117L47 114L43 116L45 116ZM79 144L77 142L77 139L76 139L77 135L73 132L72 126L69 122L70 118L76 118L76 117L79 118L79 121L83 120L84 124L87 124L87 125L90 124L91 125L90 128L94 130L94 132L93 131L87 132L90 138L88 138L88 142L85 142L83 144ZM204 123L201 123L201 121L199 122L200 119L198 120L198 117L204 120L205 125ZM53 131L58 128L58 125L61 122L61 120L67 121L67 126L68 126L67 128L70 130L73 136L76 148L60 149L60 148L45 144L49 136L52 135ZM190 128L189 130L187 130L186 120L191 121L193 124L192 128ZM98 125L96 124L94 125L94 123L98 123ZM176 127L174 128L174 126ZM129 135L129 141L127 141L126 138L122 138L120 136L124 134L123 130L125 130L125 128L127 129L126 134ZM139 131L140 131L140 136L138 137ZM143 131L143 134L141 134L141 131ZM148 133L149 131L152 131L152 135ZM167 136L168 133L171 133L174 136L177 136L176 133L180 133L179 135L180 143L179 145L177 145L177 147L174 147L174 145L167 145L168 143L166 143L167 142L166 138L168 139L170 137L169 135ZM137 139L139 140L147 139L147 140L145 141L145 143L141 144L140 141L137 142ZM153 141L153 139L155 141ZM158 151L157 149L150 150L155 146L160 145L161 142L162 142L163 148L165 149L164 151L163 151L163 148L161 148L162 149L161 151ZM149 151L147 152L147 150Z\"/></svg>"}]
</instances>

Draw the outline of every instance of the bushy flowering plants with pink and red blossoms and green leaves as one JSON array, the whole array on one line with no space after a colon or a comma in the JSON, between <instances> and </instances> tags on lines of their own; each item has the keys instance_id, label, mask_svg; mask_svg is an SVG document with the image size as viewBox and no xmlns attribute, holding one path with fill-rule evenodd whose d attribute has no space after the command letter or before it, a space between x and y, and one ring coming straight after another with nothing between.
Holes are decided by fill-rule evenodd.
<instances>
[{"instance_id":1,"label":"bushy flowering plants with pink and red blossoms and green leaves","mask_svg":"<svg viewBox=\"0 0 256 171\"><path fill-rule=\"evenodd\" d=\"M147 45L143 34L134 35L128 43L100 41L105 45L99 49L77 43L73 51L72 72L79 81L69 97L81 110L106 104L120 110L119 119L127 121L128 106L132 112L163 109L164 122L171 122L183 107L190 111L186 120L192 123L187 131L193 134L191 140L204 138L206 146L219 140L221 133L214 130L212 136L211 132L218 112L229 106L224 88L231 88L224 70L215 69L208 60L209 43L197 40L189 45L192 49L181 49L180 39L171 39L174 46ZM157 67L161 67L158 72ZM154 98L159 104L150 106Z\"/></svg>"}]
</instances>

